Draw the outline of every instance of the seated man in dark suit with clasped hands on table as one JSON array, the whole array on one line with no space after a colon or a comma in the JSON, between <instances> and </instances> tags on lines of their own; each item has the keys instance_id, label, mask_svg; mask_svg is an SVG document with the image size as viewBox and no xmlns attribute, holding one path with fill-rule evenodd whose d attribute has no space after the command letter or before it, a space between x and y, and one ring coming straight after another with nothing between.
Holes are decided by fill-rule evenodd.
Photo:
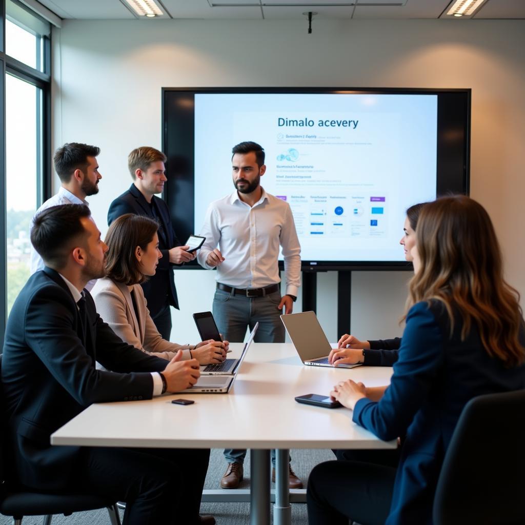
<instances>
[{"instance_id":1,"label":"seated man in dark suit with clasped hands on table","mask_svg":"<svg viewBox=\"0 0 525 525\"><path fill-rule=\"evenodd\" d=\"M13 478L125 501L128 524L199 523L209 450L50 446L50 435L91 403L176 392L194 384L199 369L182 354L167 362L135 349L98 316L84 287L105 275L108 247L87 206L46 209L31 243L46 267L13 305L2 359Z\"/></svg>"}]
</instances>

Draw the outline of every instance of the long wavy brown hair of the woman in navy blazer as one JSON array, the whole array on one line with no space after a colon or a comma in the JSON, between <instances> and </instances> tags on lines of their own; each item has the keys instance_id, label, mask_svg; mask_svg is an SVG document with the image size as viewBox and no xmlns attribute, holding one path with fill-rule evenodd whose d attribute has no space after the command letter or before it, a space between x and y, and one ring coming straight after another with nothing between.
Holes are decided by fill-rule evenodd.
<instances>
[{"instance_id":1,"label":"long wavy brown hair of the woman in navy blazer","mask_svg":"<svg viewBox=\"0 0 525 525\"><path fill-rule=\"evenodd\" d=\"M519 293L503 279L501 250L485 208L465 195L438 198L421 210L416 230L421 268L409 283L407 307L438 300L461 339L476 325L489 355L508 366L525 362Z\"/></svg>"}]
</instances>

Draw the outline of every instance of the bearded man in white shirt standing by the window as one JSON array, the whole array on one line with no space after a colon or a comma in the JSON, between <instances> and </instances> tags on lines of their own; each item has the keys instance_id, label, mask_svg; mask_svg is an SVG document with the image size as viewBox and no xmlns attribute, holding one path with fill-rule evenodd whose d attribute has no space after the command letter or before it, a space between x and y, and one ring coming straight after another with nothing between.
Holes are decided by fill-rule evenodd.
<instances>
[{"instance_id":1,"label":"bearded man in white shirt standing by the window","mask_svg":"<svg viewBox=\"0 0 525 525\"><path fill-rule=\"evenodd\" d=\"M96 195L99 187L98 183L102 178L99 173L97 156L100 148L78 142L64 144L55 152L53 158L55 170L60 178L61 186L56 195L47 199L41 205L34 218L44 209L51 206L60 206L62 204L88 204L86 197ZM31 220L31 228L33 227ZM44 269L44 261L31 245L31 275L35 271ZM91 290L96 280L90 281L86 287Z\"/></svg>"}]
</instances>

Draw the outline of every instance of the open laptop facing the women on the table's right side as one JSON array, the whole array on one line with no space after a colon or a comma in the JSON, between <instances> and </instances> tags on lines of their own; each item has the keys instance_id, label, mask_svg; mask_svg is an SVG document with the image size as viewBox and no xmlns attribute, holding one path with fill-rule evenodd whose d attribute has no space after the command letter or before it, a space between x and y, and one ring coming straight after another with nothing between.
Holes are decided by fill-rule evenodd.
<instances>
[{"instance_id":1,"label":"open laptop facing the women on the table's right side","mask_svg":"<svg viewBox=\"0 0 525 525\"><path fill-rule=\"evenodd\" d=\"M314 312L289 313L281 316L282 324L292 340L301 361L307 365L333 366L328 362L332 346ZM341 368L355 368L360 364L341 364Z\"/></svg>"}]
</instances>

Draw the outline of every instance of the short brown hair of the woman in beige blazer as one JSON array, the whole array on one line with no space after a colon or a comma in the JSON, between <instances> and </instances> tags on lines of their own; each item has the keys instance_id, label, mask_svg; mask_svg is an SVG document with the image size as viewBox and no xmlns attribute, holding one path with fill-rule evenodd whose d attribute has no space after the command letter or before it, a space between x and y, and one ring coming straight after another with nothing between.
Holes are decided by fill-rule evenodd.
<instances>
[{"instance_id":1,"label":"short brown hair of the woman in beige blazer","mask_svg":"<svg viewBox=\"0 0 525 525\"><path fill-rule=\"evenodd\" d=\"M136 285L146 280L140 271L135 249L143 250L151 243L159 225L145 215L127 213L114 220L106 234L109 247L106 255L108 277L126 286Z\"/></svg>"}]
</instances>

